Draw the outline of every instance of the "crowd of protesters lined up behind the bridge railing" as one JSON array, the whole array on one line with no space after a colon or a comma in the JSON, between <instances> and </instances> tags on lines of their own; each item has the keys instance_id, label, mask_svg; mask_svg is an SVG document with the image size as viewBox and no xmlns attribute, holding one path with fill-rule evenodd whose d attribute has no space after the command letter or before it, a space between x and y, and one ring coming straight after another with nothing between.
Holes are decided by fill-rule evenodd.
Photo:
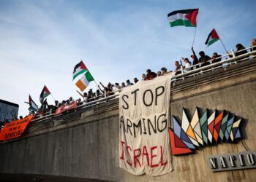
<instances>
[{"instance_id":1,"label":"crowd of protesters lined up behind the bridge railing","mask_svg":"<svg viewBox=\"0 0 256 182\"><path fill-rule=\"evenodd\" d=\"M167 74L172 74L173 76L175 76L175 75L181 74L182 71L185 73L192 69L218 63L219 61L222 60L222 55L219 55L217 52L214 52L210 58L208 55L205 54L205 52L200 51L199 52L200 57L197 58L197 55L195 54L195 50L193 47L191 50L192 50L192 55L190 57L192 60L190 61L188 58L181 58L184 64L181 61L180 62L175 61L175 66L176 66L175 71L167 71L167 68L162 67L160 71L157 71L157 73L155 73L154 71L151 71L151 69L148 69L146 70L146 74L142 74L141 80L143 81L151 80L156 78L157 76L163 76ZM255 51L255 50L256 50L256 39L252 39L252 48L250 51ZM233 54L229 52L227 53L229 54L230 58L233 58ZM244 55L246 53L247 53L247 50L242 44L236 44L236 52L234 52L235 57L239 55ZM256 53L253 55L255 56ZM246 58L249 58L249 56L246 56ZM77 106L81 106L85 103L91 103L92 101L99 100L100 98L105 98L110 95L115 95L116 93L120 92L120 90L122 90L124 87L129 87L133 84L136 84L138 81L139 79L135 77L133 79L134 83L130 82L129 79L127 79L126 82L121 82L120 84L119 83L111 84L109 82L107 86L102 84L102 82L99 82L98 89L96 90L96 92L93 92L92 89L90 89L88 92L83 92L83 94L78 92L80 96L83 98L83 100L81 98L74 100L72 97L69 97L68 100L62 100L61 102L56 100L54 105L48 105L47 101L45 100L45 102L42 104L42 106L39 108L37 112L30 111L29 114L39 117L39 116L43 116L44 114L49 114L49 113L53 114L56 111L56 109L59 108L60 106L67 106L74 102L77 103ZM17 119L18 118L15 118L13 120L17 120ZM20 116L19 119L23 119L23 116ZM7 122L8 121L1 122L0 129Z\"/></svg>"}]
</instances>

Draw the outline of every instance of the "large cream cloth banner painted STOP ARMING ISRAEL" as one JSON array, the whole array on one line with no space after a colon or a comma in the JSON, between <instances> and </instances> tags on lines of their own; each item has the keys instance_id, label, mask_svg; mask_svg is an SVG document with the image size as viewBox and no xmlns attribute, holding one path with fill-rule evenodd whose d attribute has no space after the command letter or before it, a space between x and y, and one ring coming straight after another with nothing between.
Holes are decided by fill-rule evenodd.
<instances>
[{"instance_id":1,"label":"large cream cloth banner painted STOP ARMING ISRAEL","mask_svg":"<svg viewBox=\"0 0 256 182\"><path fill-rule=\"evenodd\" d=\"M119 98L119 166L134 175L173 167L168 133L170 75L125 87Z\"/></svg>"}]
</instances>

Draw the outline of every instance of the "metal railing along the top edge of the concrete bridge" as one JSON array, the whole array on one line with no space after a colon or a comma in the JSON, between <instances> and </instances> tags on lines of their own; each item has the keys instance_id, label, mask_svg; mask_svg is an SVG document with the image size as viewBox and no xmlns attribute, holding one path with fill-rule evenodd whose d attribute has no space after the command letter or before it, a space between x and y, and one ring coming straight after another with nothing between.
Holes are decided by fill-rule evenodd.
<instances>
[{"instance_id":1,"label":"metal railing along the top edge of the concrete bridge","mask_svg":"<svg viewBox=\"0 0 256 182\"><path fill-rule=\"evenodd\" d=\"M256 46L253 46L253 47L256 47ZM252 47L248 47L248 48L245 48L244 50L250 50L251 48ZM237 52L242 52L244 50L239 50ZM231 52L228 53L227 55L223 55L223 56L217 58L217 59L226 58L225 60L221 60L217 63L211 63L212 59L208 60L208 62L211 63L208 66L203 66L203 67L200 67L200 68L196 68L196 66L200 66L202 64L202 63L198 63L198 64L193 65L193 66L190 67L190 68L195 68L195 69L192 69L192 70L187 71L187 72L184 72L184 70L181 66L181 68L182 68L181 69L181 74L172 76L171 82L176 82L178 80L185 79L185 78L190 77L190 76L195 76L197 74L203 74L204 72L207 72L207 71L214 71L217 68L226 67L226 66L244 61L244 60L248 60L250 58L255 58L255 57L256 57L256 51L252 51L252 52L250 51L250 52L247 52L244 55L235 56L235 52L233 50L231 50ZM91 106L96 106L96 105L99 105L101 103L106 103L107 101L119 98L119 92L121 92L121 90L122 89L110 92L110 93L113 93L113 95L110 95L110 96L106 96L106 92L105 92L104 97L102 96L103 98L99 98L97 100L94 100L94 98L91 98L91 100L89 100L88 103L83 103L82 105L77 106L75 108L75 110L78 111L78 110L81 110L81 109L84 109L84 108L89 108ZM43 121L43 120L46 120L46 119L54 119L55 117L62 116L64 114L54 115L51 112L48 112L48 113L45 113L45 116L34 119L33 122L38 122L38 121L41 121L41 120Z\"/></svg>"}]
</instances>

